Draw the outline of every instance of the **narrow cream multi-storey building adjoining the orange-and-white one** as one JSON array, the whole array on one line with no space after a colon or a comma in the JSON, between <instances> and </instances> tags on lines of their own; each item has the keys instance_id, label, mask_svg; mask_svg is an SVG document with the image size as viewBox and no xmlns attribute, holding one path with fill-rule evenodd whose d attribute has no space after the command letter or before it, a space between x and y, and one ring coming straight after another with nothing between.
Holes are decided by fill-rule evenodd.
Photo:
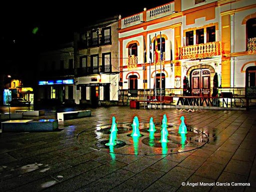
<instances>
[{"instance_id":1,"label":"narrow cream multi-storey building adjoining the orange-and-white one","mask_svg":"<svg viewBox=\"0 0 256 192\"><path fill-rule=\"evenodd\" d=\"M75 33L75 103L117 105L119 15Z\"/></svg>"}]
</instances>

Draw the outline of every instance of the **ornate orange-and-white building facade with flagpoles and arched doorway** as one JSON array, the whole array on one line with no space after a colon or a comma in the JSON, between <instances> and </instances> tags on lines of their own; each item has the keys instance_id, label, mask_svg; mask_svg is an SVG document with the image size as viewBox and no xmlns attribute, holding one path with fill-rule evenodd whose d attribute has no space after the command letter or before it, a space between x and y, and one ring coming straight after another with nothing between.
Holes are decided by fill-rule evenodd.
<instances>
[{"instance_id":1,"label":"ornate orange-and-white building facade with flagpoles and arched doorway","mask_svg":"<svg viewBox=\"0 0 256 192\"><path fill-rule=\"evenodd\" d=\"M174 0L119 26L122 104L154 95L255 98L253 0Z\"/></svg>"}]
</instances>

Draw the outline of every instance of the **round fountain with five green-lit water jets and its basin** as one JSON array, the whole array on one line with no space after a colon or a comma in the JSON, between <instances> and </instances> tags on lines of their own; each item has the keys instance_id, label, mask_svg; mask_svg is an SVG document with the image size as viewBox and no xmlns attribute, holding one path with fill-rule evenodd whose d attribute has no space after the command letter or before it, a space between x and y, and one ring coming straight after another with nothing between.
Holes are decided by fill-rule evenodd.
<instances>
[{"instance_id":1,"label":"round fountain with five green-lit water jets and its basin","mask_svg":"<svg viewBox=\"0 0 256 192\"><path fill-rule=\"evenodd\" d=\"M165 114L162 116L161 123L153 122L153 117L150 117L149 123L139 122L137 116L134 116L132 123L116 123L113 116L112 124L84 130L78 134L77 139L88 147L96 147L97 150L108 152L112 159L116 158L115 154L165 155L184 152L201 147L208 142L208 136L205 133L191 126L187 128L184 116L179 118L180 124L168 123ZM88 131L92 134L88 134ZM88 142L88 139L95 140L95 143Z\"/></svg>"}]
</instances>

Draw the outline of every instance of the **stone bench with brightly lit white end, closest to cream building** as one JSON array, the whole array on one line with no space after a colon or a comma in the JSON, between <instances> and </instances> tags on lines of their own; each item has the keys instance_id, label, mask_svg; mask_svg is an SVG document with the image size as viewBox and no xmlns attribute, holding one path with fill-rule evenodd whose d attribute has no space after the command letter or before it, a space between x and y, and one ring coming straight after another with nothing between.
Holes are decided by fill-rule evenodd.
<instances>
[{"instance_id":1,"label":"stone bench with brightly lit white end, closest to cream building","mask_svg":"<svg viewBox=\"0 0 256 192\"><path fill-rule=\"evenodd\" d=\"M91 116L90 110L57 112L58 120L67 120L67 119L81 118L81 117L87 117L87 116Z\"/></svg>"}]
</instances>

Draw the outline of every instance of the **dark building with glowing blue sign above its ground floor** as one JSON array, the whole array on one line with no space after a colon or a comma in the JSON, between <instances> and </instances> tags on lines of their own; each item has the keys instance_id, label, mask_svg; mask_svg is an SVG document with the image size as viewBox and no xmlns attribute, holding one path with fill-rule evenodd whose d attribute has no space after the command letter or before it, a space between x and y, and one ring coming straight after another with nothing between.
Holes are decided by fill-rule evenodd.
<instances>
[{"instance_id":1,"label":"dark building with glowing blue sign above its ground floor","mask_svg":"<svg viewBox=\"0 0 256 192\"><path fill-rule=\"evenodd\" d=\"M38 63L38 104L59 105L74 103L73 42L41 52Z\"/></svg>"}]
</instances>

